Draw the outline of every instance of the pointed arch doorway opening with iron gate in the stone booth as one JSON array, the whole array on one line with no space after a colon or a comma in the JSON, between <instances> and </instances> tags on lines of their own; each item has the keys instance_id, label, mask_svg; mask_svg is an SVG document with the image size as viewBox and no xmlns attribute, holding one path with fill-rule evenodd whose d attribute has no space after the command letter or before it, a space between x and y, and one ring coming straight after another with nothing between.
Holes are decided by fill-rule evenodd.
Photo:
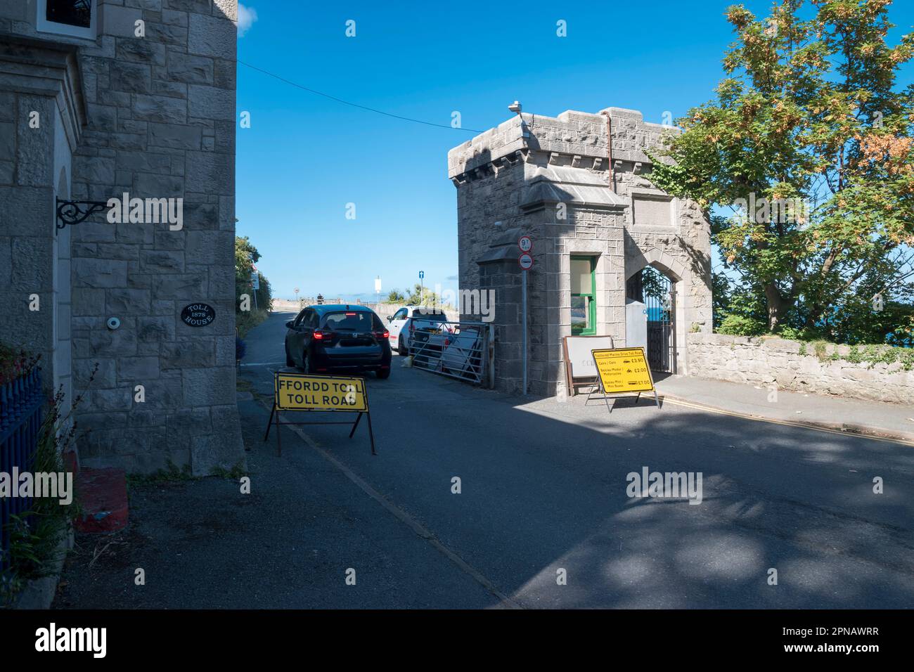
<instances>
[{"instance_id":1,"label":"pointed arch doorway opening with iron gate in the stone booth","mask_svg":"<svg viewBox=\"0 0 914 672\"><path fill-rule=\"evenodd\" d=\"M657 373L675 373L675 282L648 264L625 283L626 298L644 304L647 314L647 363Z\"/></svg>"}]
</instances>

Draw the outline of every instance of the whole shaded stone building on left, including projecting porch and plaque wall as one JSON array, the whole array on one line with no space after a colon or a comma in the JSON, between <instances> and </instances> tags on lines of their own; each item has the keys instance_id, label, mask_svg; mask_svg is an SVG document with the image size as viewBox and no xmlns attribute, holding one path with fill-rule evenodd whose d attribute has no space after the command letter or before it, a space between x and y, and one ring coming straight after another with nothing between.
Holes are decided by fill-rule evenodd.
<instances>
[{"instance_id":1,"label":"whole shaded stone building on left, including projecting porch and plaque wall","mask_svg":"<svg viewBox=\"0 0 914 672\"><path fill-rule=\"evenodd\" d=\"M244 459L237 11L237 0L0 2L0 341L40 353L48 389L85 394L83 464L207 475ZM58 198L124 193L182 198L183 225L112 224L102 211L56 229ZM187 325L190 304L215 319Z\"/></svg>"}]
</instances>

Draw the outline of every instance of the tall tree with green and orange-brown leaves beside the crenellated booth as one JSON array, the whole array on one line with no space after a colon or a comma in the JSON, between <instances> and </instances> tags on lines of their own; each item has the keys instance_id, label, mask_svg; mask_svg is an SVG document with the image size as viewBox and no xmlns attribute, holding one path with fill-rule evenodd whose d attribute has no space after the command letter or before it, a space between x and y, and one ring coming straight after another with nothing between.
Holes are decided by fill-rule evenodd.
<instances>
[{"instance_id":1,"label":"tall tree with green and orange-brown leaves beside the crenellated booth","mask_svg":"<svg viewBox=\"0 0 914 672\"><path fill-rule=\"evenodd\" d=\"M914 36L888 44L888 5L782 0L765 19L729 7L717 98L652 157L658 187L730 208L712 235L770 331L853 340L850 323L910 304L914 86L899 91L896 76ZM895 326L883 326L885 338Z\"/></svg>"}]
</instances>

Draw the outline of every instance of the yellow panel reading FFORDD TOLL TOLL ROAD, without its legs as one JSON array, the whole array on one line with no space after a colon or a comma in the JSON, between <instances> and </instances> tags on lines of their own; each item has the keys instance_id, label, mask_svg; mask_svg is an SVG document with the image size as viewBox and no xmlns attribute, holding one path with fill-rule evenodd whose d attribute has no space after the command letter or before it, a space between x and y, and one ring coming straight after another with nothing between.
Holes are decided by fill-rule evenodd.
<instances>
[{"instance_id":1,"label":"yellow panel reading FFORDD TOLL TOLL ROAD, without its legs","mask_svg":"<svg viewBox=\"0 0 914 672\"><path fill-rule=\"evenodd\" d=\"M365 380L352 376L308 376L277 372L273 376L280 411L367 411Z\"/></svg>"}]
</instances>

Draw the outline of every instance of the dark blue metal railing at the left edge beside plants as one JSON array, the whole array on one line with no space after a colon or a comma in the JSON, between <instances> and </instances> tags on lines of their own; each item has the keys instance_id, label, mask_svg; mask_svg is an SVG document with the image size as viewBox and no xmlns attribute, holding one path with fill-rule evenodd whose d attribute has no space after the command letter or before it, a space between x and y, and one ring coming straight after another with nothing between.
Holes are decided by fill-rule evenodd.
<instances>
[{"instance_id":1,"label":"dark blue metal railing at the left edge beside plants","mask_svg":"<svg viewBox=\"0 0 914 672\"><path fill-rule=\"evenodd\" d=\"M37 369L0 385L0 473L12 478L14 467L20 474L32 471L43 406L41 374ZM0 572L6 571L9 564L7 526L13 516L21 515L31 506L30 498L0 497Z\"/></svg>"}]
</instances>

